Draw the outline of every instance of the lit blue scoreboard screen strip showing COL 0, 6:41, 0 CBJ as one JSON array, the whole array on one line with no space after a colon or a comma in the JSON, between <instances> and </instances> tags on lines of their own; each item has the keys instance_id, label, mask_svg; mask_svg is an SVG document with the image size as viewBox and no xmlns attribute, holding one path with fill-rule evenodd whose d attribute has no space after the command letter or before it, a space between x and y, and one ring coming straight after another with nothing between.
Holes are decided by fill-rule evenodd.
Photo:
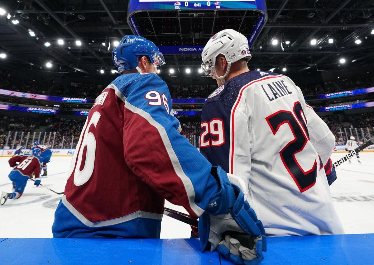
<instances>
[{"instance_id":1,"label":"lit blue scoreboard screen strip showing COL 0, 6:41, 0 CBJ","mask_svg":"<svg viewBox=\"0 0 374 265\"><path fill-rule=\"evenodd\" d=\"M175 0L130 0L129 14L136 11L184 10L184 9L257 9L266 13L265 0L225 1L175 1Z\"/></svg>"}]
</instances>

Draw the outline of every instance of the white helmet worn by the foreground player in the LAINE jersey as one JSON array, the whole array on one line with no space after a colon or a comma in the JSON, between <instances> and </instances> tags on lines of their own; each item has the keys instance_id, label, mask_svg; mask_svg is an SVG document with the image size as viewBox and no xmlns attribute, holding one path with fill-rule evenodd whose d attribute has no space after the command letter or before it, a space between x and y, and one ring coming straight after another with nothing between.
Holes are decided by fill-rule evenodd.
<instances>
[{"instance_id":1,"label":"white helmet worn by the foreground player in the LAINE jersey","mask_svg":"<svg viewBox=\"0 0 374 265\"><path fill-rule=\"evenodd\" d=\"M215 71L215 60L218 55L224 55L227 61L227 71L223 76L218 76ZM203 63L201 68L206 76L210 76L211 70L215 77L225 82L225 77L230 72L233 62L246 58L247 62L252 58L249 52L248 39L241 33L228 28L215 34L206 43L201 53Z\"/></svg>"}]
</instances>

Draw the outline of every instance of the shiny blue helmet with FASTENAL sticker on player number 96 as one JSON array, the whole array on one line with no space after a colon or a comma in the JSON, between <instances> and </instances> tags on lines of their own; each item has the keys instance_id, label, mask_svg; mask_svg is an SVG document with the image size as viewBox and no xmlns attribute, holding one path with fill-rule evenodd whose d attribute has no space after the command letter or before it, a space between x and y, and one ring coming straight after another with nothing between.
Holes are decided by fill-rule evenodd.
<instances>
[{"instance_id":1,"label":"shiny blue helmet with FASTENAL sticker on player number 96","mask_svg":"<svg viewBox=\"0 0 374 265\"><path fill-rule=\"evenodd\" d=\"M113 49L112 59L114 65L118 68L118 73L135 69L140 72L138 57L141 55L148 56L155 71L158 66L165 64L162 53L152 41L135 35L126 35L122 38Z\"/></svg>"}]
</instances>

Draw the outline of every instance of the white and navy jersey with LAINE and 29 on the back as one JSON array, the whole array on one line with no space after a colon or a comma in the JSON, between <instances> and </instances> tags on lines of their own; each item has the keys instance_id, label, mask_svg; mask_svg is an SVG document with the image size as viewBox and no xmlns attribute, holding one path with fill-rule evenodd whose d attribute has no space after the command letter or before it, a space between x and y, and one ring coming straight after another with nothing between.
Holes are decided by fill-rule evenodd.
<instances>
[{"instance_id":1,"label":"white and navy jersey with LAINE and 29 on the back","mask_svg":"<svg viewBox=\"0 0 374 265\"><path fill-rule=\"evenodd\" d=\"M248 183L248 202L270 236L344 233L323 169L334 142L281 74L240 74L203 106L200 152Z\"/></svg>"}]
</instances>

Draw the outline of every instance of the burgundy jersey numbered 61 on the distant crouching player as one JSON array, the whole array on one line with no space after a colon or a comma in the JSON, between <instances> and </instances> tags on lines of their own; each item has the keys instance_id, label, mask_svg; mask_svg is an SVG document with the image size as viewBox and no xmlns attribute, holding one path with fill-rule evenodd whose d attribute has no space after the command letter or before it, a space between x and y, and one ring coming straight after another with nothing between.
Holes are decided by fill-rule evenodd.
<instances>
[{"instance_id":1,"label":"burgundy jersey numbered 61 on the distant crouching player","mask_svg":"<svg viewBox=\"0 0 374 265\"><path fill-rule=\"evenodd\" d=\"M14 167L13 170L24 176L31 177L31 174L34 173L35 178L39 178L40 170L42 169L40 157L30 154L16 155L10 158L9 166Z\"/></svg>"}]
</instances>

